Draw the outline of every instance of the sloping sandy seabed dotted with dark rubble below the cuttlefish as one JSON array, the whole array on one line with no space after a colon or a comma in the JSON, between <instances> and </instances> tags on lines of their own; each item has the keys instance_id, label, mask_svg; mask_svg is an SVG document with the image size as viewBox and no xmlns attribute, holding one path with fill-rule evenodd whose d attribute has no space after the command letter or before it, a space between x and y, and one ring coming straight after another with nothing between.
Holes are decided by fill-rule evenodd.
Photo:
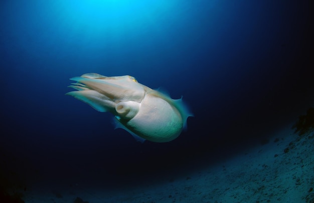
<instances>
[{"instance_id":1,"label":"sloping sandy seabed dotted with dark rubble below the cuttlefish","mask_svg":"<svg viewBox=\"0 0 314 203\"><path fill-rule=\"evenodd\" d=\"M298 136L287 127L232 158L174 178L112 189L34 185L23 199L27 203L314 202L313 152L313 133Z\"/></svg>"}]
</instances>

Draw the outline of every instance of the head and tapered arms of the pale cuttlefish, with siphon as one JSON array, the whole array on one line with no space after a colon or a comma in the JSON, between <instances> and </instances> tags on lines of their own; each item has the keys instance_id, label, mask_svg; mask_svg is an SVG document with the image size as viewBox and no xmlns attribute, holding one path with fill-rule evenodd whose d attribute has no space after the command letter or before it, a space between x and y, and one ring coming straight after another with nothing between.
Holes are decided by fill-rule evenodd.
<instances>
[{"instance_id":1,"label":"head and tapered arms of the pale cuttlefish, with siphon","mask_svg":"<svg viewBox=\"0 0 314 203\"><path fill-rule=\"evenodd\" d=\"M144 97L144 87L132 76L106 77L96 73L84 74L70 80L69 87L79 91L66 95L81 100L100 112L111 112L123 118L132 118ZM125 103L126 102L126 103ZM128 105L124 105L128 104Z\"/></svg>"}]
</instances>

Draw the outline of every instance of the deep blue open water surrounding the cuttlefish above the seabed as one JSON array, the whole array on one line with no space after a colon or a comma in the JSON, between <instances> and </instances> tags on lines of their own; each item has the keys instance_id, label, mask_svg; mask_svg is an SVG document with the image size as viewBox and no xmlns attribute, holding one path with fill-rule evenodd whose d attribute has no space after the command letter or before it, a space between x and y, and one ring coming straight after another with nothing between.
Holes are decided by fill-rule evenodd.
<instances>
[{"instance_id":1,"label":"deep blue open water surrounding the cuttlefish above the seabed","mask_svg":"<svg viewBox=\"0 0 314 203\"><path fill-rule=\"evenodd\" d=\"M3 171L119 185L228 156L313 105L312 23L307 1L1 1ZM143 144L114 130L64 95L92 72L183 96L188 130Z\"/></svg>"}]
</instances>

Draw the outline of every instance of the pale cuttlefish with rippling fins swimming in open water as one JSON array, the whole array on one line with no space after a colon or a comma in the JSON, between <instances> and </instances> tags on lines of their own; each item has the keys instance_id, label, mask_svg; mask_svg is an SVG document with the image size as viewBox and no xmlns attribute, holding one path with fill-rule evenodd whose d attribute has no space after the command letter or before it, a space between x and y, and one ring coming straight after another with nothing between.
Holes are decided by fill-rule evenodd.
<instances>
[{"instance_id":1,"label":"pale cuttlefish with rippling fins swimming in open water","mask_svg":"<svg viewBox=\"0 0 314 203\"><path fill-rule=\"evenodd\" d=\"M193 116L181 99L142 85L132 76L106 77L87 73L70 80L69 87L78 91L66 95L81 100L95 110L115 116L116 128L131 133L143 142L169 142L187 127Z\"/></svg>"}]
</instances>

